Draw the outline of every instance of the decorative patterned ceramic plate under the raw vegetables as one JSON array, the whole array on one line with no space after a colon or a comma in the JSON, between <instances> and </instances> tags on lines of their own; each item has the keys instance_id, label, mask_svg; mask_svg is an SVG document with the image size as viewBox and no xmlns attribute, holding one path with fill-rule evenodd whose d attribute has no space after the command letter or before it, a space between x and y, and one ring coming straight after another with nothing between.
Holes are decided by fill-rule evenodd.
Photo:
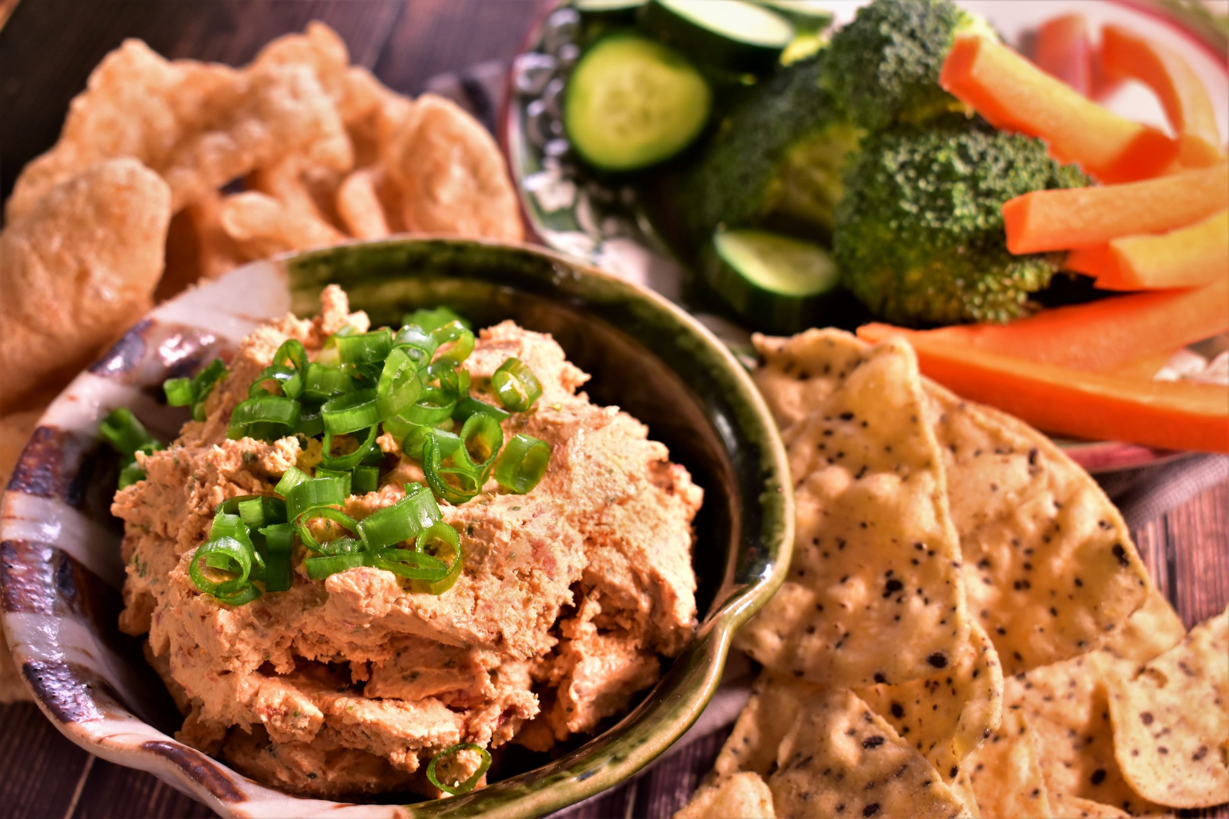
<instances>
[{"instance_id":1,"label":"decorative patterned ceramic plate under the raw vegetables","mask_svg":"<svg viewBox=\"0 0 1229 819\"><path fill-rule=\"evenodd\" d=\"M1021 46L1041 21L1078 11L1096 28L1122 23L1184 55L1208 87L1222 134L1229 134L1229 65L1225 36L1192 4L1177 0L957 0ZM836 25L853 18L865 0L831 0ZM580 15L563 5L548 12L516 58L503 106L501 143L521 196L526 220L547 246L585 259L630 282L688 304L687 273L650 224L630 184L595 178L564 139L562 97L580 55ZM1168 129L1164 111L1143 86L1126 84L1102 101L1117 113ZM753 362L750 333L719 316L699 318L746 362ZM1107 472L1181 457L1185 453L1122 441L1058 440L1091 472Z\"/></svg>"}]
</instances>

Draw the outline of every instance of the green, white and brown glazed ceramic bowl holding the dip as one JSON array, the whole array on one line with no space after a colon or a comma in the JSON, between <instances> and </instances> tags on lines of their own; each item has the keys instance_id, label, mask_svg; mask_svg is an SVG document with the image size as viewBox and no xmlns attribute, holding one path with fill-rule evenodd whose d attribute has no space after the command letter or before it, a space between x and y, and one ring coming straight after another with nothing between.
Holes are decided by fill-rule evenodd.
<instances>
[{"instance_id":1,"label":"green, white and brown glazed ceramic bowl holding the dip","mask_svg":"<svg viewBox=\"0 0 1229 819\"><path fill-rule=\"evenodd\" d=\"M116 631L119 537L106 507L114 472L95 443L98 419L129 406L170 437L184 416L151 400L162 379L195 369L288 309L313 312L329 283L345 288L351 306L376 325L447 304L476 326L512 318L552 333L592 374L585 387L592 398L646 423L705 491L694 547L702 621L692 644L601 735L465 796L350 805L259 786L168 735L178 726L157 707L166 697L156 676ZM5 631L43 711L86 749L149 770L222 815L245 818L540 817L617 785L703 711L734 632L784 578L794 519L784 448L764 402L730 352L691 316L549 251L444 239L344 245L259 262L159 307L52 405L6 503ZM57 568L47 571L49 564Z\"/></svg>"}]
</instances>

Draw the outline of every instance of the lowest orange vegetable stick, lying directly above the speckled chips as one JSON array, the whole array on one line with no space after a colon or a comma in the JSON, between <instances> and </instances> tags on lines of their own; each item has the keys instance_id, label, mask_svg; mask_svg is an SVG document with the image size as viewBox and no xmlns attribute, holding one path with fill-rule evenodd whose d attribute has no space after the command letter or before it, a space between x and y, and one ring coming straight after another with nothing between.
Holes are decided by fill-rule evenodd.
<instances>
[{"instance_id":1,"label":"lowest orange vegetable stick, lying directly above the speckled chips","mask_svg":"<svg viewBox=\"0 0 1229 819\"><path fill-rule=\"evenodd\" d=\"M1229 453L1229 386L1082 373L925 337L911 342L925 375L1039 429Z\"/></svg>"}]
</instances>

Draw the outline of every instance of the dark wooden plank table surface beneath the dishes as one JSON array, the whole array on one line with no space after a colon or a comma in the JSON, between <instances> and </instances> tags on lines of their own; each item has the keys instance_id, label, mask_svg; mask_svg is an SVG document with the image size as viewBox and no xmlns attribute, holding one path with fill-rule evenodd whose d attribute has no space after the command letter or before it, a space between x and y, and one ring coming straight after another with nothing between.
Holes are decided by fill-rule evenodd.
<instances>
[{"instance_id":1,"label":"dark wooden plank table surface beneath the dishes","mask_svg":"<svg viewBox=\"0 0 1229 819\"><path fill-rule=\"evenodd\" d=\"M0 6L10 0L0 0ZM69 100L103 54L139 37L167 57L241 64L310 20L336 28L354 63L397 91L485 60L509 61L538 0L21 0L0 30L0 196L55 140ZM1192 625L1229 603L1229 483L1136 532L1153 577ZM689 745L569 814L669 817L723 737ZM154 778L81 750L32 705L0 706L0 817L209 817Z\"/></svg>"}]
</instances>

